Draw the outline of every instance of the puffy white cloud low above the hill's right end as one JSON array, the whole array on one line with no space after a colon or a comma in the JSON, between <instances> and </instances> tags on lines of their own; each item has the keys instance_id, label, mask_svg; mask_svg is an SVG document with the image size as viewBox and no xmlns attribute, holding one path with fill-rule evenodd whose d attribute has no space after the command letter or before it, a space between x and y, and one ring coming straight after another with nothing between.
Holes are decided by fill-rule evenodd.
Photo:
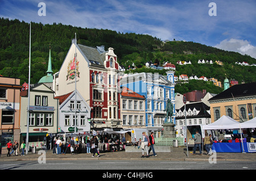
<instances>
[{"instance_id":1,"label":"puffy white cloud low above the hill's right end","mask_svg":"<svg viewBox=\"0 0 256 181\"><path fill-rule=\"evenodd\" d=\"M215 45L215 47L227 51L247 54L253 58L256 58L256 47L251 45L250 42L247 40L226 39L221 41L220 44Z\"/></svg>"}]
</instances>

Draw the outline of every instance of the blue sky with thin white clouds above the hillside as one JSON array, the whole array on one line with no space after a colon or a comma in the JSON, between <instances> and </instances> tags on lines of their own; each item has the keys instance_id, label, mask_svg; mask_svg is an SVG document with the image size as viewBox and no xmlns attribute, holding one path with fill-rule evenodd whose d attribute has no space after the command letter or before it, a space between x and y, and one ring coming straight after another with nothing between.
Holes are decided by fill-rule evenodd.
<instances>
[{"instance_id":1,"label":"blue sky with thin white clouds above the hillside","mask_svg":"<svg viewBox=\"0 0 256 181\"><path fill-rule=\"evenodd\" d=\"M255 8L255 0L0 0L0 17L193 41L256 58Z\"/></svg>"}]
</instances>

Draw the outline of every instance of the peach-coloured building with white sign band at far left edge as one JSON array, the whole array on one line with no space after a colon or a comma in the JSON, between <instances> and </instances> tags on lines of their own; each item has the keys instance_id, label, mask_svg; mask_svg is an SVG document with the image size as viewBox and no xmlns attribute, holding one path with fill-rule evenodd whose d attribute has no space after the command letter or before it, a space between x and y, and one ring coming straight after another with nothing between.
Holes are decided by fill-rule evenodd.
<instances>
[{"instance_id":1,"label":"peach-coloured building with white sign band at far left edge","mask_svg":"<svg viewBox=\"0 0 256 181\"><path fill-rule=\"evenodd\" d=\"M19 78L0 77L0 134L2 147L7 142L19 142L20 99Z\"/></svg>"}]
</instances>

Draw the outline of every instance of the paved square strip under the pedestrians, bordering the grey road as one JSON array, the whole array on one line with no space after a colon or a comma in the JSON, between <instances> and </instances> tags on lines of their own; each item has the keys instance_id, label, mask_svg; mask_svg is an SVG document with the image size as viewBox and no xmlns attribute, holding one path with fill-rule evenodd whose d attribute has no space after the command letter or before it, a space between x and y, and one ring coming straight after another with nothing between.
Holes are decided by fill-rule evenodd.
<instances>
[{"instance_id":1,"label":"paved square strip under the pedestrians, bordering the grey road","mask_svg":"<svg viewBox=\"0 0 256 181\"><path fill-rule=\"evenodd\" d=\"M192 155L192 151L188 151L188 157L187 157L187 150L185 147L181 146L179 148L171 148L170 153L157 153L158 156L154 157L152 152L150 153L150 158L141 158L142 153L127 153L125 151L117 151L117 152L106 152L106 153L100 153L100 157L92 157L92 154L52 154L52 150L47 150L46 152L46 159L52 160L52 159L63 159L63 160L88 160L88 159L143 159L148 161L154 161L154 160L166 160L166 161L209 161L209 157L213 157L210 155L207 155L204 151L203 155L199 155L199 151L197 151L196 155ZM41 151L38 151L36 153L29 152L27 155L21 156L20 153L18 156L7 157L6 153L2 153L0 157L1 161L36 161L38 158L42 155ZM249 161L249 162L256 162L256 153L216 153L214 157L217 159L217 161Z\"/></svg>"}]
</instances>

